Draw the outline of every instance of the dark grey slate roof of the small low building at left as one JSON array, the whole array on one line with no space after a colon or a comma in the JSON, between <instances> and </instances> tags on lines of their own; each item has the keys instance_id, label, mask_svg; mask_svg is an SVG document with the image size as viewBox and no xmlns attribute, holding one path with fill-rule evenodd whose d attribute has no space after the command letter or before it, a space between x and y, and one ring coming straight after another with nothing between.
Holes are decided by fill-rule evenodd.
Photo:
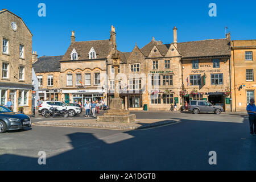
<instances>
[{"instance_id":1,"label":"dark grey slate roof of the small low building at left","mask_svg":"<svg viewBox=\"0 0 256 182\"><path fill-rule=\"evenodd\" d=\"M32 67L36 73L60 72L60 60L63 56L39 57Z\"/></svg>"}]
</instances>

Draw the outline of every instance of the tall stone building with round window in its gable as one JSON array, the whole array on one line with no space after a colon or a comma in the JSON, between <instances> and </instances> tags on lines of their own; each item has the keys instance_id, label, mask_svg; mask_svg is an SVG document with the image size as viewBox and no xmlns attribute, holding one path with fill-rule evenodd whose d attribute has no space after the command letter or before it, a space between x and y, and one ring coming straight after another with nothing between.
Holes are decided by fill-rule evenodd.
<instances>
[{"instance_id":1,"label":"tall stone building with round window in its gable","mask_svg":"<svg viewBox=\"0 0 256 182\"><path fill-rule=\"evenodd\" d=\"M9 98L14 111L23 107L31 114L32 34L22 18L9 10L0 11L0 105Z\"/></svg>"}]
</instances>

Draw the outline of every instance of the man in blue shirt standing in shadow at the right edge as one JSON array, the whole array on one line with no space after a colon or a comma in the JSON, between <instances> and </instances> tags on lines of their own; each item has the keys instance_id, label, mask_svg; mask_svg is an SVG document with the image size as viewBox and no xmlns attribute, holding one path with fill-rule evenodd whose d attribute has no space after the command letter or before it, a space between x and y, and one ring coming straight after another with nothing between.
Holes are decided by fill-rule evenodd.
<instances>
[{"instance_id":1,"label":"man in blue shirt standing in shadow at the right edge","mask_svg":"<svg viewBox=\"0 0 256 182\"><path fill-rule=\"evenodd\" d=\"M254 99L250 99L250 104L247 105L246 111L249 115L249 123L250 123L250 133L251 136L256 134L256 106L254 104Z\"/></svg>"}]
</instances>

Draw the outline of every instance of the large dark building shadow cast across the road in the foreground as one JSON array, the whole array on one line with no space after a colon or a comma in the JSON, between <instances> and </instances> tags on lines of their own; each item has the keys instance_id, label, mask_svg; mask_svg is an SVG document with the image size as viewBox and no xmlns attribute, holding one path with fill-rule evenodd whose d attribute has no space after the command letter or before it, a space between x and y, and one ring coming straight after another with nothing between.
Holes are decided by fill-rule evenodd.
<instances>
[{"instance_id":1,"label":"large dark building shadow cast across the road in the foreground","mask_svg":"<svg viewBox=\"0 0 256 182\"><path fill-rule=\"evenodd\" d=\"M250 138L247 122L209 122L192 119L183 119L183 121L178 125L142 131L126 131L101 139L95 137L93 133L68 134L72 148L60 154L55 154L54 151L47 154L46 165L40 166L36 156L30 158L22 153L20 155L4 154L0 156L0 169L256 169L256 137ZM41 148L41 150L44 149ZM217 152L216 166L210 166L208 163L209 151Z\"/></svg>"}]
</instances>

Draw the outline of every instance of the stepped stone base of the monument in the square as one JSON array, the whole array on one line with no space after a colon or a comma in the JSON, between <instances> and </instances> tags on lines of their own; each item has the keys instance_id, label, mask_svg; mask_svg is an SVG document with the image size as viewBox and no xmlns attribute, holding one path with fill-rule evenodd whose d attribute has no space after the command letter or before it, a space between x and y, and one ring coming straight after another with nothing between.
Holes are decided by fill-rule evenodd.
<instances>
[{"instance_id":1,"label":"stepped stone base of the monument in the square","mask_svg":"<svg viewBox=\"0 0 256 182\"><path fill-rule=\"evenodd\" d=\"M110 100L110 110L104 115L98 116L97 121L104 122L123 122L131 123L135 121L135 114L130 114L129 111L121 109L122 99L121 98L112 98Z\"/></svg>"}]
</instances>

